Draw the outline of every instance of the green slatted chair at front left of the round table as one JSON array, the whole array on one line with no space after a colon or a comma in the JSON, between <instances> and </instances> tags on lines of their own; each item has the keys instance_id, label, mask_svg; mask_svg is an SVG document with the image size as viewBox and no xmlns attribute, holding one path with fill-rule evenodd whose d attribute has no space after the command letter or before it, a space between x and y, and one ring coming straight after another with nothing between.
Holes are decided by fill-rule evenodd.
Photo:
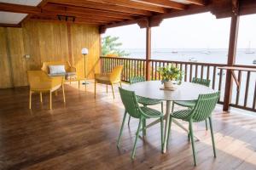
<instances>
[{"instance_id":1,"label":"green slatted chair at front left of the round table","mask_svg":"<svg viewBox=\"0 0 256 170\"><path fill-rule=\"evenodd\" d=\"M139 125L137 127L136 139L133 145L131 159L134 159L135 157L135 150L136 150L136 144L137 144L137 138L138 138L139 132L143 131L143 136L145 135L145 130L146 130L145 122L146 122L146 119L149 119L149 118L160 118L161 150L163 150L163 140L164 140L163 139L164 138L163 137L163 113L161 113L160 111L156 111L154 109L150 109L148 107L144 107L144 106L140 107L137 103L137 96L132 91L119 88L119 93L120 93L122 102L125 105L125 115L124 115L122 126L120 129L117 147L119 148L120 138L123 133L123 128L125 124L125 117L128 113L130 116L139 119ZM143 124L143 128L142 128L142 124Z\"/></svg>"}]
</instances>

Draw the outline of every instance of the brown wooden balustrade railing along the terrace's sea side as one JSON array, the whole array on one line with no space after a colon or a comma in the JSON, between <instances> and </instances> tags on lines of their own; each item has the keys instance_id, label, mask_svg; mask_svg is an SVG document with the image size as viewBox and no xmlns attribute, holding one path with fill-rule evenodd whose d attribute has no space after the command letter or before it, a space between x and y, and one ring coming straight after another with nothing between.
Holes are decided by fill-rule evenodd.
<instances>
[{"instance_id":1,"label":"brown wooden balustrade railing along the terrace's sea side","mask_svg":"<svg viewBox=\"0 0 256 170\"><path fill-rule=\"evenodd\" d=\"M218 67L226 65L157 59L149 59L148 62L150 65L148 68L150 80L160 80L160 74L157 72L158 67L173 64L184 72L184 82L191 82L193 77L201 77L211 80L211 88L218 90L221 93L218 103L224 103L226 70L219 69ZM129 82L130 77L134 76L147 77L146 59L101 57L102 72L110 72L116 65L124 65L124 70L122 72L122 81L124 82ZM255 66L247 65L236 66L256 68ZM241 85L237 88L236 83L233 83L230 106L247 111L256 111L256 72L235 71L235 74L239 81L241 81Z\"/></svg>"}]
</instances>

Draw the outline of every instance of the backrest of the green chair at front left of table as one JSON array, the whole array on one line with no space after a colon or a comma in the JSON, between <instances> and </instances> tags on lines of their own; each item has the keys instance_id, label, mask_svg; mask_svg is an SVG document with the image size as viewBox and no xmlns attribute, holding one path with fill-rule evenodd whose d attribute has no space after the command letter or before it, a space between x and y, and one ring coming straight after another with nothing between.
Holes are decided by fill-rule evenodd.
<instances>
[{"instance_id":1,"label":"backrest of the green chair at front left of table","mask_svg":"<svg viewBox=\"0 0 256 170\"><path fill-rule=\"evenodd\" d=\"M139 105L137 104L137 98L135 93L133 91L125 90L123 88L119 88L119 93L122 102L125 105L125 111L127 111L128 114L132 117L140 118L141 111L139 109Z\"/></svg>"}]
</instances>

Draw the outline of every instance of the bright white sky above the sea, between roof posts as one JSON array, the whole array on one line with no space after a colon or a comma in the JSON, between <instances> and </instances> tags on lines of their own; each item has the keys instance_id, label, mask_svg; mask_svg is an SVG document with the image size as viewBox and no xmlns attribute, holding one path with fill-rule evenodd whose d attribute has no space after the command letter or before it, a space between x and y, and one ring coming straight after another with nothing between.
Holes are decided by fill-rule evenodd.
<instances>
[{"instance_id":1,"label":"bright white sky above the sea, between roof posts","mask_svg":"<svg viewBox=\"0 0 256 170\"><path fill-rule=\"evenodd\" d=\"M145 48L146 30L137 25L110 28L102 36L119 37L122 48ZM152 48L228 48L230 18L211 13L163 20L152 28ZM256 48L256 14L241 16L237 48Z\"/></svg>"}]
</instances>

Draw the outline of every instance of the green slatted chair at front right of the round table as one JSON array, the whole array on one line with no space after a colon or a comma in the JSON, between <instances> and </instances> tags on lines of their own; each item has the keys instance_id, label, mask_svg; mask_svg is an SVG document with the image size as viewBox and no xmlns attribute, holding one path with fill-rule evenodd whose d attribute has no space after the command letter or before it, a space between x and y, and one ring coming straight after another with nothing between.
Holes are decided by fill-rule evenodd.
<instances>
[{"instance_id":1,"label":"green slatted chair at front right of the round table","mask_svg":"<svg viewBox=\"0 0 256 170\"><path fill-rule=\"evenodd\" d=\"M216 157L216 150L214 144L214 136L212 130L212 111L214 110L219 98L219 92L213 94L201 94L199 95L195 107L192 110L183 110L183 111L174 111L170 116L170 123L168 127L168 137L167 141L169 140L169 136L171 133L171 124L172 118L181 119L185 122L189 122L189 136L192 143L192 150L194 156L194 163L196 166L196 157L195 157L195 142L194 142L194 133L193 133L193 122L202 122L209 119L210 122L210 129L212 135L212 147L213 147L213 154Z\"/></svg>"}]
</instances>

